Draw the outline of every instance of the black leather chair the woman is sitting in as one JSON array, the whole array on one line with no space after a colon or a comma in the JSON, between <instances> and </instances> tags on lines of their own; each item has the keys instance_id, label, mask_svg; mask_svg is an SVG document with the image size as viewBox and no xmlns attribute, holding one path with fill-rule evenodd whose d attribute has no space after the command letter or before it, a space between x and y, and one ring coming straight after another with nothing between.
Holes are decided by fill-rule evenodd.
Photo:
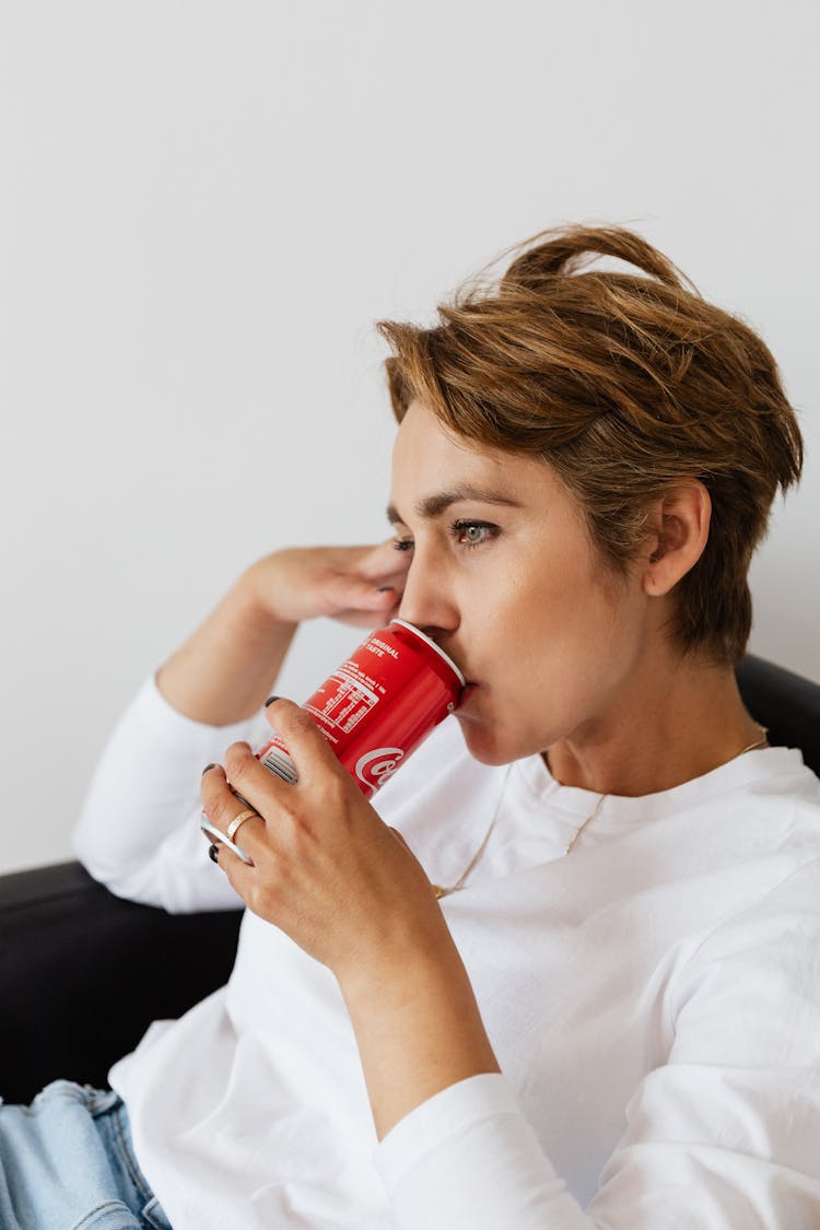
<instances>
[{"instance_id":1,"label":"black leather chair the woman is sitting in","mask_svg":"<svg viewBox=\"0 0 820 1230\"><path fill-rule=\"evenodd\" d=\"M771 742L820 775L820 685L754 657L738 678ZM58 1076L104 1087L151 1021L226 982L240 921L124 902L76 862L0 877L0 1096L28 1102Z\"/></svg>"}]
</instances>

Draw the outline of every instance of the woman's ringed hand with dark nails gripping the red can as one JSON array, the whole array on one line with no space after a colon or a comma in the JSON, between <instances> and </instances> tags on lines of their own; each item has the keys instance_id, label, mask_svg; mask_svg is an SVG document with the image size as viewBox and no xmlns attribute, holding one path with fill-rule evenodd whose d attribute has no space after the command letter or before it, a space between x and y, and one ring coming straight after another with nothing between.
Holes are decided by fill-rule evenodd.
<instances>
[{"instance_id":1,"label":"woman's ringed hand with dark nails gripping the red can","mask_svg":"<svg viewBox=\"0 0 820 1230\"><path fill-rule=\"evenodd\" d=\"M288 700L267 712L299 780L269 772L247 743L231 744L224 769L214 765L202 780L203 809L218 830L225 833L246 803L257 813L241 830L252 865L219 845L219 866L248 909L339 982L361 961L387 968L407 945L441 942L446 927L424 870L357 788L313 720Z\"/></svg>"}]
</instances>

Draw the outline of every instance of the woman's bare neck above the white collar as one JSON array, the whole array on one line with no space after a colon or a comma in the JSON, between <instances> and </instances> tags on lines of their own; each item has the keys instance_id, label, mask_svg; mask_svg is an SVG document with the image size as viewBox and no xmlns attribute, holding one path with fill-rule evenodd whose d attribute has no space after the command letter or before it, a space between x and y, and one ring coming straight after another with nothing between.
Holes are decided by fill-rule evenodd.
<instances>
[{"instance_id":1,"label":"woman's bare neck above the white collar","mask_svg":"<svg viewBox=\"0 0 820 1230\"><path fill-rule=\"evenodd\" d=\"M637 797L711 772L763 739L729 667L670 658L633 673L613 704L543 758L564 786Z\"/></svg>"}]
</instances>

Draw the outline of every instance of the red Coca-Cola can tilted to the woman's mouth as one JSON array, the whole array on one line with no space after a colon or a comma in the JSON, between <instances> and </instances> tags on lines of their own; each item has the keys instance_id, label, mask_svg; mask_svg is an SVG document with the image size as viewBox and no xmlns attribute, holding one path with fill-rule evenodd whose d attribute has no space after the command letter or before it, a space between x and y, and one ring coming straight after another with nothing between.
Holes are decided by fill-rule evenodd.
<instances>
[{"instance_id":1,"label":"red Coca-Cola can tilted to the woman's mouth","mask_svg":"<svg viewBox=\"0 0 820 1230\"><path fill-rule=\"evenodd\" d=\"M435 641L406 620L376 629L304 707L370 798L459 704L465 678ZM256 753L285 781L296 768L278 736Z\"/></svg>"}]
</instances>

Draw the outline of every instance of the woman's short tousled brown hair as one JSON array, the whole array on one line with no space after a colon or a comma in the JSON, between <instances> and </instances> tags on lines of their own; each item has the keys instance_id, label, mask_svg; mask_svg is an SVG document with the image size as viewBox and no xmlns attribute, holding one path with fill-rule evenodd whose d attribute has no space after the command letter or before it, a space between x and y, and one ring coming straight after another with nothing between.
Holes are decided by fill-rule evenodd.
<instances>
[{"instance_id":1,"label":"woman's short tousled brown hair","mask_svg":"<svg viewBox=\"0 0 820 1230\"><path fill-rule=\"evenodd\" d=\"M803 440L775 359L639 235L542 231L439 306L430 328L380 321L401 422L413 400L461 437L540 456L583 509L594 545L625 574L645 510L698 478L712 499L706 550L676 587L682 652L736 664L751 627L746 574ZM510 253L505 253L509 256ZM586 271L590 257L643 271Z\"/></svg>"}]
</instances>

